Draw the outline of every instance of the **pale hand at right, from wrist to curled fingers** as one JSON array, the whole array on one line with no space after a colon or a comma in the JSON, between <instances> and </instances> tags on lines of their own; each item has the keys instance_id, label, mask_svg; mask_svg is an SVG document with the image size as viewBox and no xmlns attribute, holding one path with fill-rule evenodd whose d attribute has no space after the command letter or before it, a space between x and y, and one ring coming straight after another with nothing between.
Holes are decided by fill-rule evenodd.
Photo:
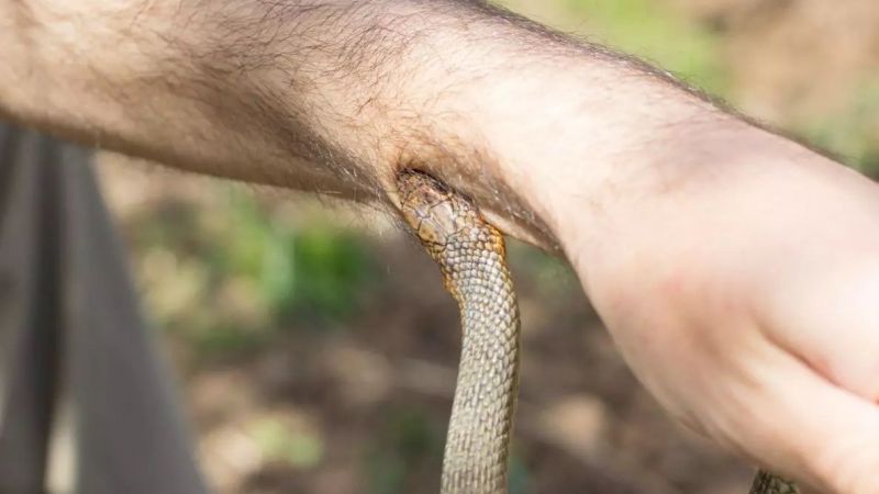
<instances>
[{"instance_id":1,"label":"pale hand at right, from wrist to curled fingers","mask_svg":"<svg viewBox=\"0 0 879 494\"><path fill-rule=\"evenodd\" d=\"M757 138L591 222L571 199L559 236L674 417L817 492L879 493L879 187Z\"/></svg>"}]
</instances>

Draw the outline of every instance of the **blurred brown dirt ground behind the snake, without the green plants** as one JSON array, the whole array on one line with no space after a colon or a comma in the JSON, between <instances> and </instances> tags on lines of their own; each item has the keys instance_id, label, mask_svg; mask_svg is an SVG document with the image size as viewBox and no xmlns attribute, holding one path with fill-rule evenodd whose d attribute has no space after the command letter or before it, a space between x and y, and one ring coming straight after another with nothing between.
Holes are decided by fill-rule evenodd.
<instances>
[{"instance_id":1,"label":"blurred brown dirt ground behind the snake, without the green plants","mask_svg":"<svg viewBox=\"0 0 879 494\"><path fill-rule=\"evenodd\" d=\"M844 108L879 67L875 0L665 2L720 33L731 98L780 125ZM510 3L527 12L539 2ZM544 11L554 16L564 25L564 10ZM132 240L138 222L163 201L210 206L204 184L214 181L115 164L102 173L135 272L148 278L153 265ZM269 195L266 207L281 207L279 194ZM167 338L219 493L438 490L459 345L455 306L412 242L371 213L340 214L348 225L378 226L363 235L382 273L354 316L330 329L287 323L267 347L207 362ZM748 465L672 425L635 381L572 274L525 247L512 254L524 360L511 492L747 492ZM154 299L145 293L148 308Z\"/></svg>"}]
</instances>

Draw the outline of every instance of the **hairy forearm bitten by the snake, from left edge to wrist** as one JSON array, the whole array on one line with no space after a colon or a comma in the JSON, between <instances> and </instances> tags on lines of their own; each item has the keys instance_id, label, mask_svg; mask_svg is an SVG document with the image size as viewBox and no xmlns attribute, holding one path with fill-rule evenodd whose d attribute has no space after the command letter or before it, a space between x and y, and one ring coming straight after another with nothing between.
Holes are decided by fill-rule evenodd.
<instances>
[{"instance_id":1,"label":"hairy forearm bitten by the snake, from left edge to wrist","mask_svg":"<svg viewBox=\"0 0 879 494\"><path fill-rule=\"evenodd\" d=\"M13 119L364 200L393 201L418 167L546 247L572 199L597 213L609 191L736 159L719 142L766 141L661 74L475 2L24 0L0 19Z\"/></svg>"}]
</instances>

